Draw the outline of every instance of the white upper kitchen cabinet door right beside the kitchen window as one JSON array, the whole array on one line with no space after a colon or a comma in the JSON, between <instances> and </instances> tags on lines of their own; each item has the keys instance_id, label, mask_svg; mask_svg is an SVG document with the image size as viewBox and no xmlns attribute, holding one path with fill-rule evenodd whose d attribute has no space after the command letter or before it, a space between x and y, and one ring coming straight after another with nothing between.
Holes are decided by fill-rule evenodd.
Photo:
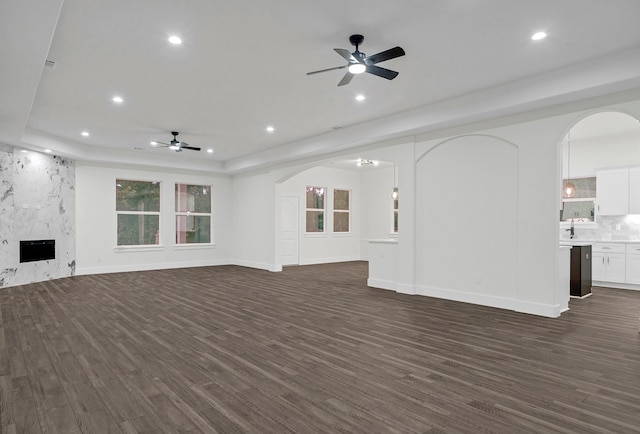
<instances>
[{"instance_id":1,"label":"white upper kitchen cabinet door right beside the kitchen window","mask_svg":"<svg viewBox=\"0 0 640 434\"><path fill-rule=\"evenodd\" d=\"M599 215L629 214L629 169L598 171L596 202Z\"/></svg>"}]
</instances>

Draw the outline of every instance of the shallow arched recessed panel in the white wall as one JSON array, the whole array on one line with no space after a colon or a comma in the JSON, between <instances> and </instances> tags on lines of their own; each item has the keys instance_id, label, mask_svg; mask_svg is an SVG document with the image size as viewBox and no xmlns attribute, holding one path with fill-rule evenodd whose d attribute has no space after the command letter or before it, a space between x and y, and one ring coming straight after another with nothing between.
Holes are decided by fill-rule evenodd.
<instances>
[{"instance_id":1,"label":"shallow arched recessed panel in the white wall","mask_svg":"<svg viewBox=\"0 0 640 434\"><path fill-rule=\"evenodd\" d=\"M417 291L478 295L513 309L517 147L474 135L429 149L417 162L416 199Z\"/></svg>"}]
</instances>

